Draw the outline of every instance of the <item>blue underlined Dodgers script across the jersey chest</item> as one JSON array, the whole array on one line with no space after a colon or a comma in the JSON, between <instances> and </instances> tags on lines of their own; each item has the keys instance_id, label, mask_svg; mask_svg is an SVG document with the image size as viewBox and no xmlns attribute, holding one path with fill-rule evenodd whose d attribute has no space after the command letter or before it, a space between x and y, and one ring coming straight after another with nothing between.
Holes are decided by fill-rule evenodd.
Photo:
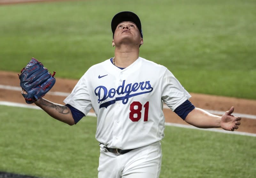
<instances>
[{"instance_id":1,"label":"blue underlined Dodgers script across the jersey chest","mask_svg":"<svg viewBox=\"0 0 256 178\"><path fill-rule=\"evenodd\" d=\"M141 92L138 91L139 89L141 90ZM105 103L101 103L99 106L99 108L102 108L102 107L107 108L109 105L112 105L116 101L120 101L120 100L122 100L123 104L126 104L129 98L137 95L145 94L145 93L150 93L152 92L152 90L153 90L153 87L151 87L150 81L134 83L134 84L129 83L125 85L125 80L124 80L123 84L118 86L117 89L111 88L110 90L108 90L105 86L98 86L97 88L95 88L94 92L96 96L98 96L98 103L100 103L101 101L105 101L107 98L113 98L116 94L123 95L126 93L126 95L124 96L116 97L113 100L106 101Z\"/></svg>"}]
</instances>

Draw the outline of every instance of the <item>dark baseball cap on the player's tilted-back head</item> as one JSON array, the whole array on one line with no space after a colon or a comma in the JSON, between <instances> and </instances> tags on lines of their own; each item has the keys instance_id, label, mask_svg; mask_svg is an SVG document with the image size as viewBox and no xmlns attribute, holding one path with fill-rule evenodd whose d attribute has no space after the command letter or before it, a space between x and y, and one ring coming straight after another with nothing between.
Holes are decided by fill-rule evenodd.
<instances>
[{"instance_id":1,"label":"dark baseball cap on the player's tilted-back head","mask_svg":"<svg viewBox=\"0 0 256 178\"><path fill-rule=\"evenodd\" d=\"M116 30L116 27L121 22L133 22L134 24L136 24L136 26L138 27L138 29L140 31L141 38L143 38L140 19L135 13L130 12L130 11L119 12L112 18L111 29L112 29L112 32L113 32L113 38L114 38L114 33L115 33L115 30Z\"/></svg>"}]
</instances>

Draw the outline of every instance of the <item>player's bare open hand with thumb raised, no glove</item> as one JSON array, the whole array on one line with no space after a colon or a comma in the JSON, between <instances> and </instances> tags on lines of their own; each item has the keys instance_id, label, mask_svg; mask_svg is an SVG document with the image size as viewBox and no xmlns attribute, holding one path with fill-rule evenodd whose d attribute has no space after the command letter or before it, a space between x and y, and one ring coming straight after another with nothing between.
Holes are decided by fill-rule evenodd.
<instances>
[{"instance_id":1,"label":"player's bare open hand with thumb raised, no glove","mask_svg":"<svg viewBox=\"0 0 256 178\"><path fill-rule=\"evenodd\" d=\"M224 130L234 131L235 129L238 129L238 126L241 124L241 117L232 115L234 109L234 106L232 106L229 111L226 111L221 117L221 128Z\"/></svg>"}]
</instances>

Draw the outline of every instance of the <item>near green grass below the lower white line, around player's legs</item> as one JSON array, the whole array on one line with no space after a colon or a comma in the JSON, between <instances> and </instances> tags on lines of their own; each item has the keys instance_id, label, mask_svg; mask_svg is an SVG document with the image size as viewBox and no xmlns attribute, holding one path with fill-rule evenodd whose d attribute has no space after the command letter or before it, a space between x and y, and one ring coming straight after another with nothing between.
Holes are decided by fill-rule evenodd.
<instances>
[{"instance_id":1,"label":"near green grass below the lower white line, around player's legs","mask_svg":"<svg viewBox=\"0 0 256 178\"><path fill-rule=\"evenodd\" d=\"M85 117L68 126L42 110L8 106L0 106L0 118L0 171L49 178L97 177L96 118ZM165 135L161 178L256 175L256 137L169 126Z\"/></svg>"}]
</instances>

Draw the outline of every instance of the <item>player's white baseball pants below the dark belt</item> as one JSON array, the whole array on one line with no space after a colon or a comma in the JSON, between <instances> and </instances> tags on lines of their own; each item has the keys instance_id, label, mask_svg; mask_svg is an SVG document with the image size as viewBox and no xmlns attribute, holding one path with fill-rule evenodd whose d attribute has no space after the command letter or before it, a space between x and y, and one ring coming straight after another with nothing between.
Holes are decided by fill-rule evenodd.
<instances>
[{"instance_id":1,"label":"player's white baseball pants below the dark belt","mask_svg":"<svg viewBox=\"0 0 256 178\"><path fill-rule=\"evenodd\" d=\"M161 161L160 141L125 154L100 148L98 178L159 178Z\"/></svg>"}]
</instances>

